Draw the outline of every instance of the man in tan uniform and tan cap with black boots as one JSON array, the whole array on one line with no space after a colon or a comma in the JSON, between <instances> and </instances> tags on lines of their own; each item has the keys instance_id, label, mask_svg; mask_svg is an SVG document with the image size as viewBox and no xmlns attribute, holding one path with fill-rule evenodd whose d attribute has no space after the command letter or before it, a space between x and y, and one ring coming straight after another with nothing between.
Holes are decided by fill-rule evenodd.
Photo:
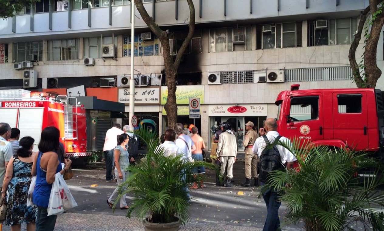
<instances>
[{"instance_id":1,"label":"man in tan uniform and tan cap with black boots","mask_svg":"<svg viewBox=\"0 0 384 231\"><path fill-rule=\"evenodd\" d=\"M259 137L257 132L253 130L255 125L248 121L245 124L245 129L247 130L247 135L245 135L244 139L244 147L245 147L245 183L241 184L244 187L251 187L251 177L255 179L254 186L259 186L259 179L257 174L257 164L259 162L259 158L257 154L252 152L253 144L256 139Z\"/></svg>"}]
</instances>

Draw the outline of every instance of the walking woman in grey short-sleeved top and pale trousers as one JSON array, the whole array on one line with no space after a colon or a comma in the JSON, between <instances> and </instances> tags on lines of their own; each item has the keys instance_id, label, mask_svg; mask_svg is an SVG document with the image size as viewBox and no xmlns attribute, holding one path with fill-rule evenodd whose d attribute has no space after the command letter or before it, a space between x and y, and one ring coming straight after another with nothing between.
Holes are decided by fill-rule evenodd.
<instances>
[{"instance_id":1,"label":"walking woman in grey short-sleeved top and pale trousers","mask_svg":"<svg viewBox=\"0 0 384 231\"><path fill-rule=\"evenodd\" d=\"M107 203L110 208L112 208L113 203L116 198L119 196L119 185L124 183L124 181L129 177L129 171L126 168L129 166L129 153L127 150L127 143L129 137L126 133L118 135L118 146L114 149L114 158L115 158L115 175L118 177L118 186L113 191L112 195L107 200ZM131 157L131 161L134 161ZM124 188L122 189L124 191ZM126 202L126 194L122 195L120 198L120 209L129 209L129 206Z\"/></svg>"}]
</instances>

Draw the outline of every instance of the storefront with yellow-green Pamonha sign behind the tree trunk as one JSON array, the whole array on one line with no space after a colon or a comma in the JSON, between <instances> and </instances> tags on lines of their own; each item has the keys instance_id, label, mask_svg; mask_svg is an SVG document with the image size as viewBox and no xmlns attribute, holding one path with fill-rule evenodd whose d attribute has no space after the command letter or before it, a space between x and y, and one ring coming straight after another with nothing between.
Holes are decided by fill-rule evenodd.
<instances>
[{"instance_id":1,"label":"storefront with yellow-green Pamonha sign behind the tree trunk","mask_svg":"<svg viewBox=\"0 0 384 231\"><path fill-rule=\"evenodd\" d=\"M164 105L167 103L168 89L166 86L161 87L161 105L162 105L162 134L168 129L168 118ZM181 85L176 89L177 103L177 123L182 123L187 128L193 124L199 129L201 134L201 118L189 118L189 98L200 98L200 104L204 104L204 86L202 85Z\"/></svg>"}]
</instances>

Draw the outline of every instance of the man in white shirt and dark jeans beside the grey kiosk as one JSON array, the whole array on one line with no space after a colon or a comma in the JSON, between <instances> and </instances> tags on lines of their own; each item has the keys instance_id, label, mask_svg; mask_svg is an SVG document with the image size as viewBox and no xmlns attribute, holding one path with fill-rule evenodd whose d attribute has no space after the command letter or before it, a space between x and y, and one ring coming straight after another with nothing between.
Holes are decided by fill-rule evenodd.
<instances>
[{"instance_id":1,"label":"man in white shirt and dark jeans beside the grey kiosk","mask_svg":"<svg viewBox=\"0 0 384 231\"><path fill-rule=\"evenodd\" d=\"M112 174L112 166L114 163L114 154L113 150L118 145L118 135L124 133L121 129L121 125L116 123L112 128L109 128L105 134L104 142L104 157L106 164L106 180L107 182L117 182L116 177Z\"/></svg>"}]
</instances>

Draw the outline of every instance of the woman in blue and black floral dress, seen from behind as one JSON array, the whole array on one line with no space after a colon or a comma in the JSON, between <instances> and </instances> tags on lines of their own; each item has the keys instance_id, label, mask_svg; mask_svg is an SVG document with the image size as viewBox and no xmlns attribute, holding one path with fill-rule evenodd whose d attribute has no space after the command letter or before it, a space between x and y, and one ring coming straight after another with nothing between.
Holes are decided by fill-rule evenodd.
<instances>
[{"instance_id":1,"label":"woman in blue and black floral dress, seen from behind","mask_svg":"<svg viewBox=\"0 0 384 231\"><path fill-rule=\"evenodd\" d=\"M9 161L3 181L2 198L7 201L7 216L5 224L12 231L19 231L21 224L27 224L26 230L35 230L37 207L26 206L28 189L31 184L32 164L37 153L32 152L35 140L26 136L20 140L17 156ZM5 194L7 192L7 194Z\"/></svg>"}]
</instances>

